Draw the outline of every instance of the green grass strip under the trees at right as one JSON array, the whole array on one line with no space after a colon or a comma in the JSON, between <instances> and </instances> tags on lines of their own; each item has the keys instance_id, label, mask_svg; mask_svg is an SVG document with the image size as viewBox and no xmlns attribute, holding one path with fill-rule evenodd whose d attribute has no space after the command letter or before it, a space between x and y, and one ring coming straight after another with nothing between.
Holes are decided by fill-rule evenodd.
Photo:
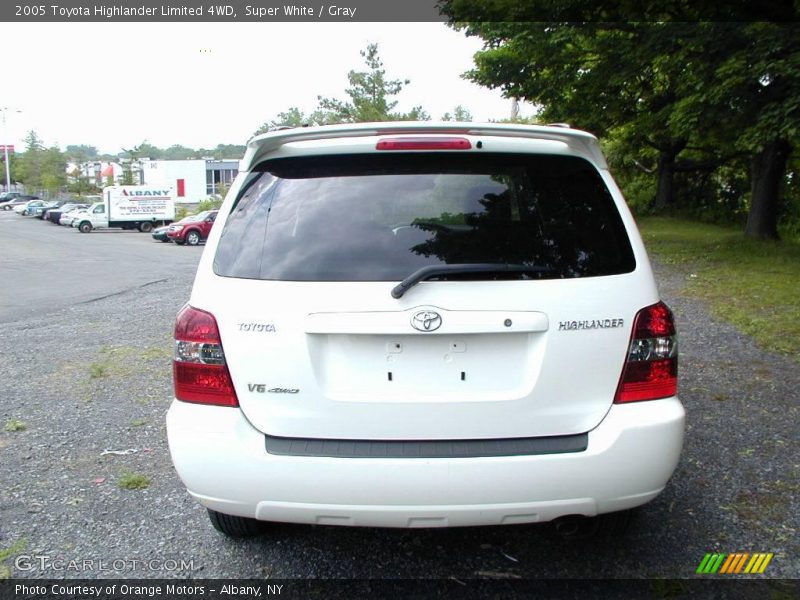
<instances>
[{"instance_id":1,"label":"green grass strip under the trees at right","mask_svg":"<svg viewBox=\"0 0 800 600\"><path fill-rule=\"evenodd\" d=\"M761 348L800 361L800 244L673 218L644 218L639 226L648 252L691 274L687 295Z\"/></svg>"}]
</instances>

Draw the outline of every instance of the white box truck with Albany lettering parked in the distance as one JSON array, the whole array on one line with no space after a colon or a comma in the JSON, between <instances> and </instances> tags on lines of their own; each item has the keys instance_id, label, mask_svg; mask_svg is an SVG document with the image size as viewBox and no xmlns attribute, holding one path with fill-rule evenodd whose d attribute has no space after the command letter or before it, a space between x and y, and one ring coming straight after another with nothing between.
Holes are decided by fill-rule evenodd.
<instances>
[{"instance_id":1,"label":"white box truck with Albany lettering parked in the distance","mask_svg":"<svg viewBox=\"0 0 800 600\"><path fill-rule=\"evenodd\" d=\"M92 204L72 222L81 233L117 227L149 232L175 219L175 193L169 186L114 185L103 189L103 201Z\"/></svg>"}]
</instances>

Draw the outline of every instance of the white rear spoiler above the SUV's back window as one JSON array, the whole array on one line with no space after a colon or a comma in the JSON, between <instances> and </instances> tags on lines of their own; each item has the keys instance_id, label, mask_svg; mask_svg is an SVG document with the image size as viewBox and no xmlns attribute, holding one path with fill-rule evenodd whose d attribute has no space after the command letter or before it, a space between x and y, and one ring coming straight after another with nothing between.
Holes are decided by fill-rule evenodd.
<instances>
[{"instance_id":1,"label":"white rear spoiler above the SUV's back window","mask_svg":"<svg viewBox=\"0 0 800 600\"><path fill-rule=\"evenodd\" d=\"M268 154L292 142L414 133L553 140L566 144L573 152L585 156L598 168L608 168L605 157L600 151L600 144L595 136L585 131L564 127L562 124L518 125L514 123L398 121L296 127L264 133L254 137L247 143L244 158L239 162L239 171L249 171Z\"/></svg>"}]
</instances>

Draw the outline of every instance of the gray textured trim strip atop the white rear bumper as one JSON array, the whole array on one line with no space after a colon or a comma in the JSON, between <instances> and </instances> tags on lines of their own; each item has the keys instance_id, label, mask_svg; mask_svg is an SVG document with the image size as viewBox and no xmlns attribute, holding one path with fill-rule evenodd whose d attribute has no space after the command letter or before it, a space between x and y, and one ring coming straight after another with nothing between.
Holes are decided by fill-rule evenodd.
<instances>
[{"instance_id":1,"label":"gray textured trim strip atop the white rear bumper","mask_svg":"<svg viewBox=\"0 0 800 600\"><path fill-rule=\"evenodd\" d=\"M473 458L583 452L589 435L500 440L373 441L266 437L267 452L280 456L333 458Z\"/></svg>"}]
</instances>

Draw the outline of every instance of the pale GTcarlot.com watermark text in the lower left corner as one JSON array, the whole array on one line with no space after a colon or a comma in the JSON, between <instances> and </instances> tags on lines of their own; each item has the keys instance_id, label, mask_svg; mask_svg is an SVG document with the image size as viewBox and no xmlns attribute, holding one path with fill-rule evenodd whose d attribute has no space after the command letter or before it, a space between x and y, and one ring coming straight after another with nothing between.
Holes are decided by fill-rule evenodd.
<instances>
[{"instance_id":1,"label":"pale GTcarlot.com watermark text in the lower left corner","mask_svg":"<svg viewBox=\"0 0 800 600\"><path fill-rule=\"evenodd\" d=\"M194 559L183 558L64 558L50 554L20 554L14 560L18 571L52 571L57 573L131 573L143 571L194 571Z\"/></svg>"}]
</instances>

